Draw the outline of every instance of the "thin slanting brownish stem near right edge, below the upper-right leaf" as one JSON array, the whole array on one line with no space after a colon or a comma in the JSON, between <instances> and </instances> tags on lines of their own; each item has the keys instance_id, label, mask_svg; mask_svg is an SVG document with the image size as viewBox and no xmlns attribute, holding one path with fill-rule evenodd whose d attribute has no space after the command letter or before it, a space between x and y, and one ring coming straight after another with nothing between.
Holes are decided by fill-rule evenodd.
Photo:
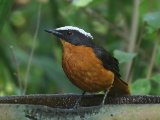
<instances>
[{"instance_id":1,"label":"thin slanting brownish stem near right edge, below the upper-right leaf","mask_svg":"<svg viewBox=\"0 0 160 120\"><path fill-rule=\"evenodd\" d=\"M157 35L157 40L154 43L154 48L153 48L153 51L152 51L152 56L151 56L149 67L148 67L148 72L147 72L147 76L146 76L146 78L148 80L150 79L151 74L152 74L152 70L153 70L153 67L154 67L154 61L155 61L155 58L156 58L156 52L158 50L158 46L159 46L159 35Z\"/></svg>"}]
</instances>

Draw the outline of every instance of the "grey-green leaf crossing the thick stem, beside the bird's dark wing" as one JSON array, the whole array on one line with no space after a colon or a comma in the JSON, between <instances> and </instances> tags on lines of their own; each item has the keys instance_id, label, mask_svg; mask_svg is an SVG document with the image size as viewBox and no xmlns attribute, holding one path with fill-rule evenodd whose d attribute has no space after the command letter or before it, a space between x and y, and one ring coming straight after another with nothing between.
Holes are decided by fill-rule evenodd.
<instances>
[{"instance_id":1,"label":"grey-green leaf crossing the thick stem, beside the bird's dark wing","mask_svg":"<svg viewBox=\"0 0 160 120\"><path fill-rule=\"evenodd\" d=\"M136 53L127 53L120 50L114 50L114 56L118 59L119 63L126 63L130 62L136 56Z\"/></svg>"}]
</instances>

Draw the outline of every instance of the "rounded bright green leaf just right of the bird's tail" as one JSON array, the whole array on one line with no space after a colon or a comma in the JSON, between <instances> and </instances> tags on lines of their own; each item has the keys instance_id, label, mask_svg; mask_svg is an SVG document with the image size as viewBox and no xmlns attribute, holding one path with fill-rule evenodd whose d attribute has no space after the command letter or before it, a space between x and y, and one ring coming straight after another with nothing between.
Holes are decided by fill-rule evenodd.
<instances>
[{"instance_id":1,"label":"rounded bright green leaf just right of the bird's tail","mask_svg":"<svg viewBox=\"0 0 160 120\"><path fill-rule=\"evenodd\" d=\"M147 79L138 79L131 84L132 94L147 95L151 90L150 81Z\"/></svg>"}]
</instances>

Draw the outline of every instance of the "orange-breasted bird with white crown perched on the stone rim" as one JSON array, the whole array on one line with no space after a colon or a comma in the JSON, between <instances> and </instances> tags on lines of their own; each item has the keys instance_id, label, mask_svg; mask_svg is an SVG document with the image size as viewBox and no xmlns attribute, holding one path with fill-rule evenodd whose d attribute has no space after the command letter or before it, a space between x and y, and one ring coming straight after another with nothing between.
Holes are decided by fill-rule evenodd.
<instances>
[{"instance_id":1,"label":"orange-breasted bird with white crown perched on the stone rim","mask_svg":"<svg viewBox=\"0 0 160 120\"><path fill-rule=\"evenodd\" d=\"M102 105L107 96L130 95L129 85L121 79L119 62L103 47L93 41L93 36L76 26L45 29L62 43L62 68L69 80L83 90L79 104L86 92L104 91Z\"/></svg>"}]
</instances>

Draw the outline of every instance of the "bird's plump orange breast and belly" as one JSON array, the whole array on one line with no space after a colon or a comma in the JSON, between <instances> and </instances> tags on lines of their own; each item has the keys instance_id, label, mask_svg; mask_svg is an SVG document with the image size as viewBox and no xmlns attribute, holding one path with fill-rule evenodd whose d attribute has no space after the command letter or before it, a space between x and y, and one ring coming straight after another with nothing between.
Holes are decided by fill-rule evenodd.
<instances>
[{"instance_id":1,"label":"bird's plump orange breast and belly","mask_svg":"<svg viewBox=\"0 0 160 120\"><path fill-rule=\"evenodd\" d=\"M87 92L111 88L114 74L103 67L92 48L75 46L64 41L62 44L62 67L73 84Z\"/></svg>"}]
</instances>

